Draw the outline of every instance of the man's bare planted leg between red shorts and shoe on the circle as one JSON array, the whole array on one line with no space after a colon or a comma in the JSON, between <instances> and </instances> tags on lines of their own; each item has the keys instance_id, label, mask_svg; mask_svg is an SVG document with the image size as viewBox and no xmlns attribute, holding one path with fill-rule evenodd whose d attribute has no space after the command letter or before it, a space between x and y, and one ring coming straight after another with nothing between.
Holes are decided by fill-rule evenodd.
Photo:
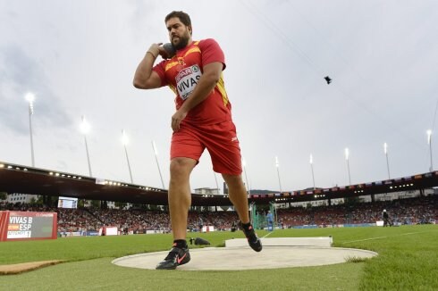
<instances>
[{"instance_id":1,"label":"man's bare planted leg between red shorts and shoe on the circle","mask_svg":"<svg viewBox=\"0 0 438 291\"><path fill-rule=\"evenodd\" d=\"M190 158L173 158L169 183L169 212L173 239L186 239L187 218L191 204L190 173L197 161Z\"/></svg>"}]
</instances>

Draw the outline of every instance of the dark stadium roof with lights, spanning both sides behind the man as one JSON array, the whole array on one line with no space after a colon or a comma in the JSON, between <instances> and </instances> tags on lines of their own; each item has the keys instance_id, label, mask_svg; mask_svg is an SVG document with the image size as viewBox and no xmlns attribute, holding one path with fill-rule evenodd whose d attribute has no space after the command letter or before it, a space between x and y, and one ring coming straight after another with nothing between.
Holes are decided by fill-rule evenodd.
<instances>
[{"instance_id":1,"label":"dark stadium roof with lights, spanning both sides behind the man","mask_svg":"<svg viewBox=\"0 0 438 291\"><path fill-rule=\"evenodd\" d=\"M250 203L269 204L324 200L421 190L438 187L438 171L398 179L387 179L344 187L316 188L293 192L248 195ZM167 190L135 184L97 179L55 170L45 170L0 162L0 191L33 195L70 196L79 199L105 200L132 204L167 204ZM229 206L223 195L192 194L193 206Z\"/></svg>"}]
</instances>

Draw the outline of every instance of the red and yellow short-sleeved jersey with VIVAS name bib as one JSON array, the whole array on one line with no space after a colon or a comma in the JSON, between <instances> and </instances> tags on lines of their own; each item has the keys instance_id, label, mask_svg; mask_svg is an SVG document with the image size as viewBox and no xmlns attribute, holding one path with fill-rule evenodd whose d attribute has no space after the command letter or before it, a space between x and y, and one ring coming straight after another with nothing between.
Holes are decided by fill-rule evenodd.
<instances>
[{"instance_id":1,"label":"red and yellow short-sleeved jersey with VIVAS name bib","mask_svg":"<svg viewBox=\"0 0 438 291\"><path fill-rule=\"evenodd\" d=\"M193 92L201 78L203 68L211 62L222 62L225 69L225 57L221 47L214 39L193 41L179 50L172 59L159 62L154 71L160 76L161 86L169 86L175 96L178 110ZM232 104L228 100L223 84L223 74L210 95L193 107L183 122L214 124L232 120Z\"/></svg>"}]
</instances>

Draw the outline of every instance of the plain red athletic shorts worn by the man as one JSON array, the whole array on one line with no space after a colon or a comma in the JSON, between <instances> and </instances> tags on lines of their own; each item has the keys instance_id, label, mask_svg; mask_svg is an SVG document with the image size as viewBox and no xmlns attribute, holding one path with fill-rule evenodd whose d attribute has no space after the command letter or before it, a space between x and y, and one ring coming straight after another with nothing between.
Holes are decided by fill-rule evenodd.
<instances>
[{"instance_id":1,"label":"plain red athletic shorts worn by the man","mask_svg":"<svg viewBox=\"0 0 438 291\"><path fill-rule=\"evenodd\" d=\"M201 126L184 122L180 130L173 132L171 159L186 157L199 162L205 149L210 153L215 172L241 174L239 139L232 121Z\"/></svg>"}]
</instances>

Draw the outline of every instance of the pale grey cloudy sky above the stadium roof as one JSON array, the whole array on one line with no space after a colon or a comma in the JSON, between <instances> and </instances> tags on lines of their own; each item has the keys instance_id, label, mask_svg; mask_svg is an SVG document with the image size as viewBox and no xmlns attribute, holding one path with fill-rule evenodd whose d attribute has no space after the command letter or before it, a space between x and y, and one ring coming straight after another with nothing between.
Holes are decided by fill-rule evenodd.
<instances>
[{"instance_id":1,"label":"pale grey cloudy sky above the stadium roof","mask_svg":"<svg viewBox=\"0 0 438 291\"><path fill-rule=\"evenodd\" d=\"M438 159L438 2L351 0L0 0L0 161L30 165L27 92L38 168L88 175L81 116L90 123L94 177L169 179L173 93L132 87L164 17L189 12L193 38L222 46L248 184L278 190L347 185L429 170ZM330 85L324 80L330 76ZM438 161L438 160L437 160ZM436 166L438 167L438 164ZM222 188L223 179L216 175ZM191 188L216 187L208 153Z\"/></svg>"}]
</instances>

